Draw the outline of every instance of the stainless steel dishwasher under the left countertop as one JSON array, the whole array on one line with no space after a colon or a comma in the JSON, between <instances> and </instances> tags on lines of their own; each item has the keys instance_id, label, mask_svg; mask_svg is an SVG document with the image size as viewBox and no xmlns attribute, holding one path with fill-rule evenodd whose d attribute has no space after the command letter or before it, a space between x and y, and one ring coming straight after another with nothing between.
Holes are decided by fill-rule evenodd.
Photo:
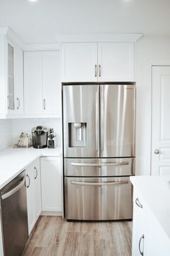
<instances>
[{"instance_id":1,"label":"stainless steel dishwasher under the left countertop","mask_svg":"<svg viewBox=\"0 0 170 256\"><path fill-rule=\"evenodd\" d=\"M21 255L28 239L25 171L1 189L1 223L4 255Z\"/></svg>"}]
</instances>

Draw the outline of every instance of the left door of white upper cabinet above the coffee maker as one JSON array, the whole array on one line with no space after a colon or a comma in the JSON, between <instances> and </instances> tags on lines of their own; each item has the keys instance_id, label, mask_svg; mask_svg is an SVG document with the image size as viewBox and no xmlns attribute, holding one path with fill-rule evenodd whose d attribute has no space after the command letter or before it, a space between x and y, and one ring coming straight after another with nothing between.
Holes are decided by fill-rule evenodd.
<instances>
[{"instance_id":1,"label":"left door of white upper cabinet above the coffee maker","mask_svg":"<svg viewBox=\"0 0 170 256\"><path fill-rule=\"evenodd\" d=\"M24 53L24 113L42 114L42 52Z\"/></svg>"}]
</instances>

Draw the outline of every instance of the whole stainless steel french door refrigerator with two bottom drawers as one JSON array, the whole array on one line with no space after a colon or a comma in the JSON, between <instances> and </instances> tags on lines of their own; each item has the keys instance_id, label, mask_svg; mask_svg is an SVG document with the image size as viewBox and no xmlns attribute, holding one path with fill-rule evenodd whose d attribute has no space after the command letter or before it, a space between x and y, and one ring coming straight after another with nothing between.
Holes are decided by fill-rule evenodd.
<instances>
[{"instance_id":1,"label":"whole stainless steel french door refrigerator with two bottom drawers","mask_svg":"<svg viewBox=\"0 0 170 256\"><path fill-rule=\"evenodd\" d=\"M132 218L135 85L63 85L68 220Z\"/></svg>"}]
</instances>

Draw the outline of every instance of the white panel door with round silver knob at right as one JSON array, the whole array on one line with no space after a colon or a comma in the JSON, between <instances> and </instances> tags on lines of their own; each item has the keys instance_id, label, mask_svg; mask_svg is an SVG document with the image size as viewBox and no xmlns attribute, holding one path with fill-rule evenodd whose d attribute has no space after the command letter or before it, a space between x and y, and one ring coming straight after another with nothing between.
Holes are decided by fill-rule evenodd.
<instances>
[{"instance_id":1,"label":"white panel door with round silver knob at right","mask_svg":"<svg viewBox=\"0 0 170 256\"><path fill-rule=\"evenodd\" d=\"M170 175L170 67L152 69L151 174Z\"/></svg>"}]
</instances>

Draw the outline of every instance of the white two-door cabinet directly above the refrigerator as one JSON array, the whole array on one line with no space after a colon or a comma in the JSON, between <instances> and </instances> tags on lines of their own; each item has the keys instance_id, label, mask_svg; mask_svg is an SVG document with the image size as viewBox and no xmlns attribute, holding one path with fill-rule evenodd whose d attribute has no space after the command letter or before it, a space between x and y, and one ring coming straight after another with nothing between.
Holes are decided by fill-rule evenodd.
<instances>
[{"instance_id":1,"label":"white two-door cabinet directly above the refrigerator","mask_svg":"<svg viewBox=\"0 0 170 256\"><path fill-rule=\"evenodd\" d=\"M134 43L63 43L62 82L133 82Z\"/></svg>"}]
</instances>

